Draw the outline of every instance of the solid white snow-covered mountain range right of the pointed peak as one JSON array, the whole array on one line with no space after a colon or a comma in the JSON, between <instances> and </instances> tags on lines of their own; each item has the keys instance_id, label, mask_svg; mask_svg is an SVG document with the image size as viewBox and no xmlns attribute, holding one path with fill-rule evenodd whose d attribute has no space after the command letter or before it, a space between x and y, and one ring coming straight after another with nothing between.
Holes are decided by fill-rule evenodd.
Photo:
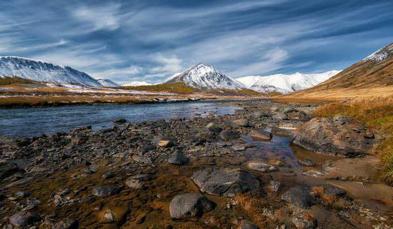
<instances>
[{"instance_id":1,"label":"solid white snow-covered mountain range right of the pointed peak","mask_svg":"<svg viewBox=\"0 0 393 229\"><path fill-rule=\"evenodd\" d=\"M327 71L313 74L294 73L292 75L275 74L271 76L244 76L237 78L237 80L254 91L290 93L305 88L311 88L337 75L339 72L340 71Z\"/></svg>"}]
</instances>

